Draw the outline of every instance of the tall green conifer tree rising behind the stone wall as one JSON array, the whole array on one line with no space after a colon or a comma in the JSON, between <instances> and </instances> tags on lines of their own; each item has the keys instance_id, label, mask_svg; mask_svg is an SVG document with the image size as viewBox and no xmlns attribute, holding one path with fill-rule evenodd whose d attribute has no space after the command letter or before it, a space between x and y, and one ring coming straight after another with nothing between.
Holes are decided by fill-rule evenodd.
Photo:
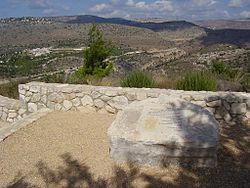
<instances>
[{"instance_id":1,"label":"tall green conifer tree rising behind the stone wall","mask_svg":"<svg viewBox=\"0 0 250 188\"><path fill-rule=\"evenodd\" d=\"M88 48L84 50L83 73L105 76L112 65L104 61L112 53L113 45L103 38L103 33L93 24L88 33Z\"/></svg>"}]
</instances>

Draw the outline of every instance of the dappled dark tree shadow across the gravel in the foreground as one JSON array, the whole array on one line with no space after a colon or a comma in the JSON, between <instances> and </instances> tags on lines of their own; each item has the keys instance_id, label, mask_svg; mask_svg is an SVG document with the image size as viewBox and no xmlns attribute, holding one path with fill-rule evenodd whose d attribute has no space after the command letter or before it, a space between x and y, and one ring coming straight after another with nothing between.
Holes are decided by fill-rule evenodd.
<instances>
[{"instance_id":1,"label":"dappled dark tree shadow across the gravel in the foreground","mask_svg":"<svg viewBox=\"0 0 250 188\"><path fill-rule=\"evenodd\" d=\"M114 166L109 179L96 179L91 169L75 160L69 153L62 155L64 166L50 169L44 162L37 164L37 170L46 187L94 187L132 188L140 187L250 187L250 130L243 125L223 125L218 166L216 168L182 168L174 181L168 181L168 174L152 176L136 165L123 169ZM28 175L27 175L28 176ZM9 183L8 188L36 188L27 182L21 172Z\"/></svg>"}]
</instances>

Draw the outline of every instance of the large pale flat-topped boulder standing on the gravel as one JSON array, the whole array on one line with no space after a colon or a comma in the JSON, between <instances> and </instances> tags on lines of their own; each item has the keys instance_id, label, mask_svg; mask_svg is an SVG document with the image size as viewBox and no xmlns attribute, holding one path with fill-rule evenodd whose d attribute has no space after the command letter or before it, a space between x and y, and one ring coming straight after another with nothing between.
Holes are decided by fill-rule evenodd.
<instances>
[{"instance_id":1,"label":"large pale flat-topped boulder standing on the gravel","mask_svg":"<svg viewBox=\"0 0 250 188\"><path fill-rule=\"evenodd\" d=\"M115 161L166 166L216 165L219 124L204 108L177 98L133 102L108 129Z\"/></svg>"}]
</instances>

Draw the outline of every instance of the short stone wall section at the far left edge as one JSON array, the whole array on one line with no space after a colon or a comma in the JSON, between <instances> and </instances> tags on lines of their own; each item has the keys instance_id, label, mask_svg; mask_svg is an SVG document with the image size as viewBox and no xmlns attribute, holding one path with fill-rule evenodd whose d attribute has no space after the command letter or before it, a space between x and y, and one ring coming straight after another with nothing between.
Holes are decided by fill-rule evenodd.
<instances>
[{"instance_id":1,"label":"short stone wall section at the far left edge","mask_svg":"<svg viewBox=\"0 0 250 188\"><path fill-rule=\"evenodd\" d=\"M0 95L0 120L12 123L25 115L26 108L21 108L18 100Z\"/></svg>"}]
</instances>

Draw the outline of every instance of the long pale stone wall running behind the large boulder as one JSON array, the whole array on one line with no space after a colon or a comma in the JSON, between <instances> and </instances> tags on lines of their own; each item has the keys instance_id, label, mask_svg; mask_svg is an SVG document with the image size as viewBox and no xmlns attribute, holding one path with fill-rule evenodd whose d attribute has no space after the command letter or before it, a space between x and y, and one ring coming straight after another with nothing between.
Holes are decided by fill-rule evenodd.
<instances>
[{"instance_id":1,"label":"long pale stone wall running behind the large boulder","mask_svg":"<svg viewBox=\"0 0 250 188\"><path fill-rule=\"evenodd\" d=\"M133 101L157 98L160 94L198 104L219 121L249 123L250 94L235 92L177 91L31 82L19 85L21 107L28 113L52 110L117 113Z\"/></svg>"}]
</instances>

